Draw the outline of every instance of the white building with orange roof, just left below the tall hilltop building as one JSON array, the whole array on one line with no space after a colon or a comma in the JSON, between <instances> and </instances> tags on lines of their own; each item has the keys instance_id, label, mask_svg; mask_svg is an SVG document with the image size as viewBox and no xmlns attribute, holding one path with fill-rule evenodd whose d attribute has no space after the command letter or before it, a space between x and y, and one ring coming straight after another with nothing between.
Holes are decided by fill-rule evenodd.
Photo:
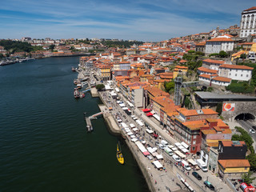
<instances>
[{"instance_id":1,"label":"white building with orange roof, just left below the tall hilltop building","mask_svg":"<svg viewBox=\"0 0 256 192\"><path fill-rule=\"evenodd\" d=\"M206 41L206 54L218 54L221 50L226 52L234 49L234 41L230 38L212 38Z\"/></svg>"}]
</instances>

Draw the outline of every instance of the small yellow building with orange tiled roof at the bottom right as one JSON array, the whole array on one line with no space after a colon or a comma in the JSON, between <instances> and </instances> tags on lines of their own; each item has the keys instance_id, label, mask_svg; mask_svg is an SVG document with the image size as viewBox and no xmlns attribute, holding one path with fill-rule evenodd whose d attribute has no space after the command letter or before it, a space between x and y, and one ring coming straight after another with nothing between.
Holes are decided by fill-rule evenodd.
<instances>
[{"instance_id":1,"label":"small yellow building with orange tiled roof at the bottom right","mask_svg":"<svg viewBox=\"0 0 256 192\"><path fill-rule=\"evenodd\" d=\"M218 160L218 172L225 177L241 177L242 174L248 173L250 163L247 159L222 159Z\"/></svg>"}]
</instances>

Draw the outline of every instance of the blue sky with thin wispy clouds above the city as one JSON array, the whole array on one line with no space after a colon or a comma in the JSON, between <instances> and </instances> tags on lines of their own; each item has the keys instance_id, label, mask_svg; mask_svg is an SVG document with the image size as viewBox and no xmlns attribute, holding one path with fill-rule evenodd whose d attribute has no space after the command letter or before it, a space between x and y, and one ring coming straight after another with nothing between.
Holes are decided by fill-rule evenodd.
<instances>
[{"instance_id":1,"label":"blue sky with thin wispy clouds above the city","mask_svg":"<svg viewBox=\"0 0 256 192\"><path fill-rule=\"evenodd\" d=\"M0 38L162 41L238 24L255 0L6 0Z\"/></svg>"}]
</instances>

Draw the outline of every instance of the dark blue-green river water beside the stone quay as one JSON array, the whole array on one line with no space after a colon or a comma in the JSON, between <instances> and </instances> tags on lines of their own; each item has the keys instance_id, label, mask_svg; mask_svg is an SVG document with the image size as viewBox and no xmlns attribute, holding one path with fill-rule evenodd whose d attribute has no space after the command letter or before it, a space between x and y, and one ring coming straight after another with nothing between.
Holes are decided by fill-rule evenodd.
<instances>
[{"instance_id":1,"label":"dark blue-green river water beside the stone quay","mask_svg":"<svg viewBox=\"0 0 256 192\"><path fill-rule=\"evenodd\" d=\"M0 67L0 191L148 191L130 150L103 118L86 133L99 98L74 99L78 57Z\"/></svg>"}]
</instances>

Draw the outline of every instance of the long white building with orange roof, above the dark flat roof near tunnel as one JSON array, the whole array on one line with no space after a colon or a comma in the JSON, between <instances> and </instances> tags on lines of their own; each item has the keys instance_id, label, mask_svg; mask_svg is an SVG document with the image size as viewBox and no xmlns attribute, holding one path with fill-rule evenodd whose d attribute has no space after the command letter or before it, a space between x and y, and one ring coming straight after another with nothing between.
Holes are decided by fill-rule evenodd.
<instances>
[{"instance_id":1,"label":"long white building with orange roof, above the dark flat roof near tunnel","mask_svg":"<svg viewBox=\"0 0 256 192\"><path fill-rule=\"evenodd\" d=\"M223 64L219 66L218 76L239 81L249 81L253 70L254 68L250 66Z\"/></svg>"}]
</instances>

